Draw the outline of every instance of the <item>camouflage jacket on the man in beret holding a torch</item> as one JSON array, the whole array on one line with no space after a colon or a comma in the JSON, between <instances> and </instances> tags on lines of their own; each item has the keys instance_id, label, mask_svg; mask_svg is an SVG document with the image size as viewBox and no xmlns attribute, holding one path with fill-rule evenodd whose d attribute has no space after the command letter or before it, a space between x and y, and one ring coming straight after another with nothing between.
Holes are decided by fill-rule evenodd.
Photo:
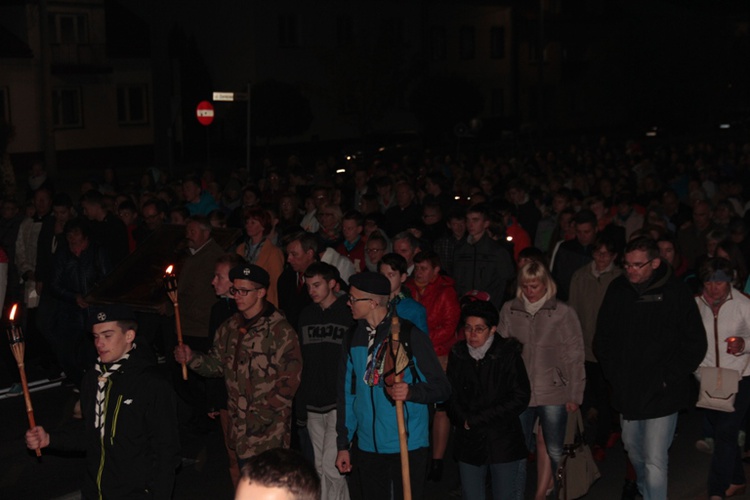
<instances>
[{"instance_id":1,"label":"camouflage jacket on the man in beret holding a torch","mask_svg":"<svg viewBox=\"0 0 750 500\"><path fill-rule=\"evenodd\" d=\"M194 353L189 366L200 375L224 375L229 446L240 458L289 447L302 355L297 334L273 305L250 321L234 314L216 331L211 350Z\"/></svg>"}]
</instances>

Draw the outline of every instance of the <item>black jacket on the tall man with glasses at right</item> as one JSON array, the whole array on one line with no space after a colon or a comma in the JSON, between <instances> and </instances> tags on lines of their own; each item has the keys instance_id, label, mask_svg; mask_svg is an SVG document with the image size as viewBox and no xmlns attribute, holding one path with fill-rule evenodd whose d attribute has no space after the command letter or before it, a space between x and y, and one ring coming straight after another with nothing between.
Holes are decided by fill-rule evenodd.
<instances>
[{"instance_id":1,"label":"black jacket on the tall man with glasses at right","mask_svg":"<svg viewBox=\"0 0 750 500\"><path fill-rule=\"evenodd\" d=\"M667 264L654 270L643 292L626 275L609 285L594 354L612 385L612 406L625 419L664 417L692 405L692 373L706 345L698 306Z\"/></svg>"}]
</instances>

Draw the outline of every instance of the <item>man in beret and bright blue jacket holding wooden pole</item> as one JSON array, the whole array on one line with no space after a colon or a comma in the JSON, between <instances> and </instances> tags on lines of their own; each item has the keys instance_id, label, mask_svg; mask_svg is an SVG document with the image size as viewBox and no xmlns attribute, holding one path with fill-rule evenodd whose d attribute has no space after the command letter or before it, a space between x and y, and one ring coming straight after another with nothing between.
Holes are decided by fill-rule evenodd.
<instances>
[{"instance_id":1,"label":"man in beret and bright blue jacket holding wooden pole","mask_svg":"<svg viewBox=\"0 0 750 500\"><path fill-rule=\"evenodd\" d=\"M394 382L383 359L391 335L393 310L388 308L391 286L382 274L352 276L349 307L356 328L342 350L338 384L338 457L336 467L350 472L355 464L361 475L363 498L380 500L403 496L396 409L404 402L411 469L412 498L422 498L429 449L428 405L450 396L450 383L432 349L429 337L401 320L401 341L409 345L410 366L403 381ZM357 448L350 446L357 434Z\"/></svg>"}]
</instances>

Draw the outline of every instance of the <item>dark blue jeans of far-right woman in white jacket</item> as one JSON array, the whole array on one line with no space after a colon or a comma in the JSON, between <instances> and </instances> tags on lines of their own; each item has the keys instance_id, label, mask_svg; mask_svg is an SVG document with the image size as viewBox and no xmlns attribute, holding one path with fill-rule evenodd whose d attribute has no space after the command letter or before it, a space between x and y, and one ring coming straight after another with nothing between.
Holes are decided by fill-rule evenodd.
<instances>
[{"instance_id":1,"label":"dark blue jeans of far-right woman in white jacket","mask_svg":"<svg viewBox=\"0 0 750 500\"><path fill-rule=\"evenodd\" d=\"M743 377L734 400L734 412L706 411L714 438L714 453L708 473L709 495L723 496L730 484L745 484L745 470L737 434L745 421L748 407L750 377Z\"/></svg>"}]
</instances>

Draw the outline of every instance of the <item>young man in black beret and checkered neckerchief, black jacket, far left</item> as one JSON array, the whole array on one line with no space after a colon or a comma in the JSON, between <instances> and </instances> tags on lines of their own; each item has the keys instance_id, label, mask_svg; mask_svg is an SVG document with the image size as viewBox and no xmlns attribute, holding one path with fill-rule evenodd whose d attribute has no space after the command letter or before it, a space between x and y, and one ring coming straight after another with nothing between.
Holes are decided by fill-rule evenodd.
<instances>
[{"instance_id":1,"label":"young man in black beret and checkered neckerchief, black jacket, far left","mask_svg":"<svg viewBox=\"0 0 750 500\"><path fill-rule=\"evenodd\" d=\"M92 311L99 357L81 387L83 421L51 434L41 426L26 432L32 450L86 451L83 498L172 498L180 463L174 392L153 354L137 348L137 329L128 307Z\"/></svg>"}]
</instances>

